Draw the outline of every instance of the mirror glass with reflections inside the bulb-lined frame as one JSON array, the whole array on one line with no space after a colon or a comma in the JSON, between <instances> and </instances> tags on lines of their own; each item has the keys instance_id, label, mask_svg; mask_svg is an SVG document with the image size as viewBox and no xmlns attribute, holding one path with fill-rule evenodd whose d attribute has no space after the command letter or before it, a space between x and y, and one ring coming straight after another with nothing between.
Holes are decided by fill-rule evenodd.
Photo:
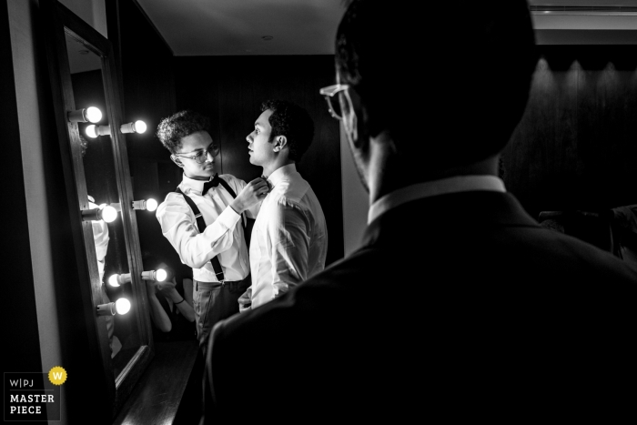
<instances>
[{"instance_id":1,"label":"mirror glass with reflections inside the bulb-lined frame","mask_svg":"<svg viewBox=\"0 0 637 425\"><path fill-rule=\"evenodd\" d=\"M109 136L111 127L106 114L102 61L100 56L68 33L66 51L76 108L97 108L102 112L101 119L96 122L90 122L95 121L92 119L78 123L78 131L89 207L102 208L105 212L111 208L116 211L116 217L112 220L104 214L103 219L92 221L96 258L89 260L96 262L99 271L100 303L115 303L112 310L116 314L100 318L106 320L114 378L117 378L140 347L141 339L135 315L128 312L128 309L135 309L130 280L118 286L108 284L111 276L125 275L130 270L121 218L122 202L117 187L116 162Z\"/></svg>"}]
</instances>

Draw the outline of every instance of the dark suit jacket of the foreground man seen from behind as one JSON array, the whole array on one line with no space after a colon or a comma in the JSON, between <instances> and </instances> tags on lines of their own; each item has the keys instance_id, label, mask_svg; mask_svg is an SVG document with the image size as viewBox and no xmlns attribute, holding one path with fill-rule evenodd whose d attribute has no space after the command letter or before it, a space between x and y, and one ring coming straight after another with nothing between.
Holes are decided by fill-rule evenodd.
<instances>
[{"instance_id":1,"label":"dark suit jacket of the foreground man seen from behind","mask_svg":"<svg viewBox=\"0 0 637 425\"><path fill-rule=\"evenodd\" d=\"M636 301L635 270L509 194L420 199L217 325L206 423L572 419L607 401L634 417Z\"/></svg>"}]
</instances>

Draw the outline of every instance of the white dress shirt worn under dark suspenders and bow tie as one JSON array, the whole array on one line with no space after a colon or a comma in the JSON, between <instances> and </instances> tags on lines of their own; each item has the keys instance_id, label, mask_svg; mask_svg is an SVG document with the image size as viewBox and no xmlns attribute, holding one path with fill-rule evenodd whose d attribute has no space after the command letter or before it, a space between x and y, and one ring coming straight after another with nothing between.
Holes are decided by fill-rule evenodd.
<instances>
[{"instance_id":1,"label":"white dress shirt worn under dark suspenders and bow tie","mask_svg":"<svg viewBox=\"0 0 637 425\"><path fill-rule=\"evenodd\" d=\"M226 180L237 195L246 186L246 182L229 174L219 177ZM210 258L215 256L218 256L227 281L247 278L250 268L243 226L239 223L241 216L229 207L234 198L221 185L210 188L207 194L202 195L204 183L206 182L203 180L184 175L179 188L199 208L206 222L206 230L199 233L195 213L184 197L171 192L157 207L161 231L177 250L181 261L193 268L195 280L218 282L210 264ZM247 213L248 217L254 218L258 213L258 205L250 208Z\"/></svg>"}]
</instances>

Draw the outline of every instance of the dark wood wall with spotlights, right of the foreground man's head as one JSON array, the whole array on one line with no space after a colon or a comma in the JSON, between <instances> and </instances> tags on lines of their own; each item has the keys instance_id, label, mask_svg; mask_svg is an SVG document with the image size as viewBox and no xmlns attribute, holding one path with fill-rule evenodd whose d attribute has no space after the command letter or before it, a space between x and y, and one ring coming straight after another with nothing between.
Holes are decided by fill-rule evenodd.
<instances>
[{"instance_id":1,"label":"dark wood wall with spotlights, right of the foreground man's head","mask_svg":"<svg viewBox=\"0 0 637 425\"><path fill-rule=\"evenodd\" d=\"M540 48L529 105L502 155L508 190L535 218L637 203L637 47Z\"/></svg>"}]
</instances>

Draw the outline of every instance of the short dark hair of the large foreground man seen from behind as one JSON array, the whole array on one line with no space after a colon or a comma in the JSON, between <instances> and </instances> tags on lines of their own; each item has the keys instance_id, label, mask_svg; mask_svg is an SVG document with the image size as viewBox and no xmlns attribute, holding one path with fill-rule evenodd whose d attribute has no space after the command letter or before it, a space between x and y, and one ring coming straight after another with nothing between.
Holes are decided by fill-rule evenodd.
<instances>
[{"instance_id":1,"label":"short dark hair of the large foreground man seen from behind","mask_svg":"<svg viewBox=\"0 0 637 425\"><path fill-rule=\"evenodd\" d=\"M445 168L501 151L524 112L537 63L525 0L420 5L353 0L336 37L341 84L359 95L371 136L400 157ZM420 130L414 130L420 128Z\"/></svg>"}]
</instances>

